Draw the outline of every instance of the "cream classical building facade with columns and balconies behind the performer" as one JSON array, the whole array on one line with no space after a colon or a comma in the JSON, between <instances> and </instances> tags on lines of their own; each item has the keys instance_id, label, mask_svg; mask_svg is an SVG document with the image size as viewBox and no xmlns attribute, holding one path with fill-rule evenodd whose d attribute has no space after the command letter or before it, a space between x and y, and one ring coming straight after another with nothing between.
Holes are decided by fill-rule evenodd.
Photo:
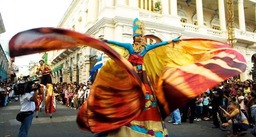
<instances>
[{"instance_id":1,"label":"cream classical building facade with columns and balconies behind the performer","mask_svg":"<svg viewBox=\"0 0 256 137\"><path fill-rule=\"evenodd\" d=\"M234 1L234 48L240 50L248 63L239 78L256 80L252 70L256 68L256 3L255 0ZM132 43L132 23L136 17L144 21L149 43L178 36L228 42L226 0L73 0L58 27L95 38ZM45 54L54 70L54 83L83 83L88 80L101 51L81 46ZM104 56L103 60L107 59Z\"/></svg>"}]
</instances>

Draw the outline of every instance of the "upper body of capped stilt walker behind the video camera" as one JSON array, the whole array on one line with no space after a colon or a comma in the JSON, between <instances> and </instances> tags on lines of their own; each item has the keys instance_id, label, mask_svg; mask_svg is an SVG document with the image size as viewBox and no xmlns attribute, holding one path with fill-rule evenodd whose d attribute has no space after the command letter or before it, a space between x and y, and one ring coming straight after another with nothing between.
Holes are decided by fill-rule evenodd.
<instances>
[{"instance_id":1,"label":"upper body of capped stilt walker behind the video camera","mask_svg":"<svg viewBox=\"0 0 256 137\"><path fill-rule=\"evenodd\" d=\"M44 61L40 60L40 67L37 68L36 74L39 75L39 72L42 72L42 79L41 79L41 84L45 85L46 84L51 84L51 75L52 75L52 71L50 69L50 66L48 65L44 65Z\"/></svg>"}]
</instances>

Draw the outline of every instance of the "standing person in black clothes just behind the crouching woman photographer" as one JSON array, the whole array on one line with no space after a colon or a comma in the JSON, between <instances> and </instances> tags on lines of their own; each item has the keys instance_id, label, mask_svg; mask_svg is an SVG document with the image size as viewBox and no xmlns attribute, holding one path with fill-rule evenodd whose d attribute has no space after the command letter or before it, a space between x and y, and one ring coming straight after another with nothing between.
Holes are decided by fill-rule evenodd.
<instances>
[{"instance_id":1,"label":"standing person in black clothes just behind the crouching woman photographer","mask_svg":"<svg viewBox=\"0 0 256 137\"><path fill-rule=\"evenodd\" d=\"M219 122L218 122L218 117L217 117L217 112L220 116L220 119L222 121L222 123L227 123L226 118L224 118L222 116L222 111L219 109L219 107L221 107L223 105L223 90L222 90L222 83L218 83L218 85L216 85L214 87L214 92L211 91L212 94L212 115L213 115L213 129L219 128Z\"/></svg>"}]
</instances>

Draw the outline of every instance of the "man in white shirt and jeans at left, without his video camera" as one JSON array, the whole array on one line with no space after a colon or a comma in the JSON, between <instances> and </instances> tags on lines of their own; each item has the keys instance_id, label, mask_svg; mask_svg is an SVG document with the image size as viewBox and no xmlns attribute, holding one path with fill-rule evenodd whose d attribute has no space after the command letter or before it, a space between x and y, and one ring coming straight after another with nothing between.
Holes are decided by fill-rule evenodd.
<instances>
[{"instance_id":1,"label":"man in white shirt and jeans at left, without his video camera","mask_svg":"<svg viewBox=\"0 0 256 137\"><path fill-rule=\"evenodd\" d=\"M31 87L34 91L29 93L24 93L20 95L20 102L21 102L21 112L24 113L31 113L31 115L27 116L22 122L21 127L19 129L19 136L18 137L27 137L30 125L33 120L33 113L35 111L35 102L37 101L37 96L42 95L42 91L38 90L37 85L32 85Z\"/></svg>"}]
</instances>

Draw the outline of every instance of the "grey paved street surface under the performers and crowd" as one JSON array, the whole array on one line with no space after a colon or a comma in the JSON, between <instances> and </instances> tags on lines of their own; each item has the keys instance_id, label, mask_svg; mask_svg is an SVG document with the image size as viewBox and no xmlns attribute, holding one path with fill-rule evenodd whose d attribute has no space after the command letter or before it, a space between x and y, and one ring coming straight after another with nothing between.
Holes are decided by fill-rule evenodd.
<instances>
[{"instance_id":1,"label":"grey paved street surface under the performers and crowd","mask_svg":"<svg viewBox=\"0 0 256 137\"><path fill-rule=\"evenodd\" d=\"M0 108L0 137L17 137L20 122L15 117L20 110L19 101ZM33 119L29 130L29 137L92 137L90 132L82 131L76 124L76 114L78 110L70 109L58 103L57 111L50 119L49 114L38 113L38 118ZM195 121L193 124L182 123L182 125L172 125L165 120L168 132L171 137L226 137L227 132L220 129L211 129L211 121ZM253 137L247 131L243 137Z\"/></svg>"}]
</instances>

